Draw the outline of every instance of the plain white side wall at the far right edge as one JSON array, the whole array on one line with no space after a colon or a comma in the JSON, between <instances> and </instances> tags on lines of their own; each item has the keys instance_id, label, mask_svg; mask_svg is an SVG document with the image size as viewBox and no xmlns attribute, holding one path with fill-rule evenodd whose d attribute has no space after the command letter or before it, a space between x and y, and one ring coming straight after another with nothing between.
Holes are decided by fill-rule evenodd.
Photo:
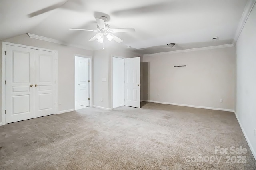
<instances>
[{"instance_id":1,"label":"plain white side wall at the far right edge","mask_svg":"<svg viewBox=\"0 0 256 170\"><path fill-rule=\"evenodd\" d=\"M236 43L236 116L256 158L256 5Z\"/></svg>"}]
</instances>

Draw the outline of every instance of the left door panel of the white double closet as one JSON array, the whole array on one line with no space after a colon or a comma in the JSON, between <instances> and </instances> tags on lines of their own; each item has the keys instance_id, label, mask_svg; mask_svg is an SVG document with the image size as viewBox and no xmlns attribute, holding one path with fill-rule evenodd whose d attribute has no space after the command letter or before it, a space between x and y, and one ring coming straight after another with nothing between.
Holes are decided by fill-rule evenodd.
<instances>
[{"instance_id":1,"label":"left door panel of the white double closet","mask_svg":"<svg viewBox=\"0 0 256 170\"><path fill-rule=\"evenodd\" d=\"M6 45L6 123L34 118L34 49Z\"/></svg>"}]
</instances>

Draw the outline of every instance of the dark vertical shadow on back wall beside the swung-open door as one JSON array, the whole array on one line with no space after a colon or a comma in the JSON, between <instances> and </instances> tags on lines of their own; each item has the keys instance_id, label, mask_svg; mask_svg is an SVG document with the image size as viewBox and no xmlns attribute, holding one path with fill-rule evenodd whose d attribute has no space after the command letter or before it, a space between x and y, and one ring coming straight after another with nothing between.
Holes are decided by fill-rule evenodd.
<instances>
[{"instance_id":1,"label":"dark vertical shadow on back wall beside the swung-open door","mask_svg":"<svg viewBox=\"0 0 256 170\"><path fill-rule=\"evenodd\" d=\"M150 63L142 63L142 72L143 72L143 100L149 100L148 89L150 89Z\"/></svg>"}]
</instances>

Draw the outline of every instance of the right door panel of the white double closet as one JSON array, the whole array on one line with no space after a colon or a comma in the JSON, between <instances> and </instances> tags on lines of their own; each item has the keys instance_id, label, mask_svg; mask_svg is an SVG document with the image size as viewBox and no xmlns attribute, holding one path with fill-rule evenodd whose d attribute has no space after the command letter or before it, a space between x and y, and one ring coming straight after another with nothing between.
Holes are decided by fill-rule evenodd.
<instances>
[{"instance_id":1,"label":"right door panel of the white double closet","mask_svg":"<svg viewBox=\"0 0 256 170\"><path fill-rule=\"evenodd\" d=\"M56 114L56 52L34 52L34 116Z\"/></svg>"}]
</instances>

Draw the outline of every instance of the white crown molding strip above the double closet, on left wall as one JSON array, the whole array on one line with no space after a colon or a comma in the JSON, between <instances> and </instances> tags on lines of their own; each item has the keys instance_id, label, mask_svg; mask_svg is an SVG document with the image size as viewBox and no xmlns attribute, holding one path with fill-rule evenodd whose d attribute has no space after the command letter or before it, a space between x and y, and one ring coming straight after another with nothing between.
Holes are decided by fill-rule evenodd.
<instances>
[{"instance_id":1,"label":"white crown molding strip above the double closet, on left wall","mask_svg":"<svg viewBox=\"0 0 256 170\"><path fill-rule=\"evenodd\" d=\"M56 39L48 38L48 37L44 37L44 36L38 36L38 35L35 35L35 34L30 34L30 33L27 33L27 35L30 38L34 38L34 39L37 39L37 40L43 40L43 41L53 42L53 43L56 43L56 44L62 44L62 45L70 46L70 47L82 48L84 50L93 51L92 48L86 48L86 47L84 47L82 45L78 45L78 44L71 44L71 43L68 43L68 42L65 42L65 41L56 40Z\"/></svg>"}]
</instances>

